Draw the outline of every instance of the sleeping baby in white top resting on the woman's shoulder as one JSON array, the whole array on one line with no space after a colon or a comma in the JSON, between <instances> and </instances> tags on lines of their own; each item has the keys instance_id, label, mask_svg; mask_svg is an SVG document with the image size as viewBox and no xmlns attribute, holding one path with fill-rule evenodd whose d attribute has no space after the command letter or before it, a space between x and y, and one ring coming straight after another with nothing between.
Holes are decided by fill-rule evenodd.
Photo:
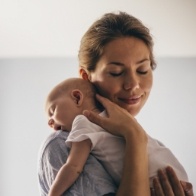
<instances>
[{"instance_id":1,"label":"sleeping baby in white top resting on the woman's shoulder","mask_svg":"<svg viewBox=\"0 0 196 196\"><path fill-rule=\"evenodd\" d=\"M91 110L105 116L106 112L95 99L93 85L80 78L67 79L55 86L46 100L48 124L54 130L68 131L66 145L70 154L66 163L59 170L49 192L49 196L62 195L78 178L85 162L92 153L111 175L118 187L123 168L125 141L114 136L84 115L84 110ZM188 181L183 166L172 152L148 135L149 179L156 176L157 170L170 165L180 178Z\"/></svg>"}]
</instances>

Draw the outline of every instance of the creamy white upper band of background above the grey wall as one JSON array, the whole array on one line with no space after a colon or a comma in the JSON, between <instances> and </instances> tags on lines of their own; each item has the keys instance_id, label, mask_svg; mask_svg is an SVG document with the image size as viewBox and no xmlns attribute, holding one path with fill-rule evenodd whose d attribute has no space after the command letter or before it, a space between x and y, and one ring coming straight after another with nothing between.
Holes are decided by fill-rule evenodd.
<instances>
[{"instance_id":1,"label":"creamy white upper band of background above the grey wall","mask_svg":"<svg viewBox=\"0 0 196 196\"><path fill-rule=\"evenodd\" d=\"M0 57L76 56L81 36L105 12L140 18L158 56L196 56L195 0L0 0Z\"/></svg>"}]
</instances>

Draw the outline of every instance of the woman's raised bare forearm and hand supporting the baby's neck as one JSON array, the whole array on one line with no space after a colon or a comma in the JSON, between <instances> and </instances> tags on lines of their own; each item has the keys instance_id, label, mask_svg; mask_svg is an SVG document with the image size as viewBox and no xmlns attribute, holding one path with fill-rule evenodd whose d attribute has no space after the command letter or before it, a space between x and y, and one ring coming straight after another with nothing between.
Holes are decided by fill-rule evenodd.
<instances>
[{"instance_id":1,"label":"woman's raised bare forearm and hand supporting the baby's neck","mask_svg":"<svg viewBox=\"0 0 196 196\"><path fill-rule=\"evenodd\" d=\"M108 118L84 111L89 120L112 134L125 138L125 160L117 195L150 195L148 180L147 136L137 121L123 108L98 96L106 108Z\"/></svg>"}]
</instances>

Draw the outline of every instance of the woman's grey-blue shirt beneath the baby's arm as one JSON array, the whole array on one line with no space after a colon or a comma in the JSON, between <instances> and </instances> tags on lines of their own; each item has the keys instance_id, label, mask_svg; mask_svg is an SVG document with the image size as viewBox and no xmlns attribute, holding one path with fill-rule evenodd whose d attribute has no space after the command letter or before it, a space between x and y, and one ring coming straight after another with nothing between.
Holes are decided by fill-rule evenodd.
<instances>
[{"instance_id":1,"label":"woman's grey-blue shirt beneath the baby's arm","mask_svg":"<svg viewBox=\"0 0 196 196\"><path fill-rule=\"evenodd\" d=\"M57 172L66 162L69 149L65 145L68 133L64 131L53 132L43 142L38 157L38 178L40 195L48 195L49 188ZM66 196L102 196L115 193L116 187L97 159L90 155L83 172L76 182L63 195Z\"/></svg>"}]
</instances>

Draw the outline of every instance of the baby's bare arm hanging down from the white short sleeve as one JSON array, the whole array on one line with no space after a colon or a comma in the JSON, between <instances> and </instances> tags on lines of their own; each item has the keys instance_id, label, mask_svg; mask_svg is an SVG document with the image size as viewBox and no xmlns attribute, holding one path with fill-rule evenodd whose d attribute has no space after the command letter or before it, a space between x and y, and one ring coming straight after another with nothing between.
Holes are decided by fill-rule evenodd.
<instances>
[{"instance_id":1,"label":"baby's bare arm hanging down from the white short sleeve","mask_svg":"<svg viewBox=\"0 0 196 196\"><path fill-rule=\"evenodd\" d=\"M49 196L62 195L78 178L91 150L89 139L73 142L67 162L59 170L49 192Z\"/></svg>"}]
</instances>

